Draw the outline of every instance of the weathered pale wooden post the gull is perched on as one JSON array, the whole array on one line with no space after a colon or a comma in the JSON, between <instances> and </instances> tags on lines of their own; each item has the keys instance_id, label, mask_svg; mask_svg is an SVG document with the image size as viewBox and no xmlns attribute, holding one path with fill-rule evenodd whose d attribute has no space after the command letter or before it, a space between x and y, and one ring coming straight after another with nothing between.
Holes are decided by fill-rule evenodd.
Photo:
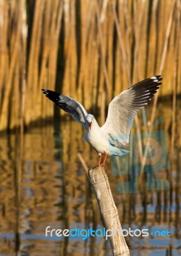
<instances>
[{"instance_id":1,"label":"weathered pale wooden post the gull is perched on","mask_svg":"<svg viewBox=\"0 0 181 256\"><path fill-rule=\"evenodd\" d=\"M97 198L98 206L104 221L106 230L122 230L118 210L114 204L113 195L109 186L109 181L104 167L95 166L88 170L88 177L91 186ZM121 236L118 231L109 236L109 241L113 250L114 256L129 256L129 248L125 242L125 237Z\"/></svg>"}]
</instances>

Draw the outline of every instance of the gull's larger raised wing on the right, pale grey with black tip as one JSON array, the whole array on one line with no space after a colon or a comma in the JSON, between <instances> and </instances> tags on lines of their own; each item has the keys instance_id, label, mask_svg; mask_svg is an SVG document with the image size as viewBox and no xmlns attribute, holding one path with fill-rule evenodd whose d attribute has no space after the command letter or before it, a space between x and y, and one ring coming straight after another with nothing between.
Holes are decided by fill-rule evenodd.
<instances>
[{"instance_id":1,"label":"gull's larger raised wing on the right, pale grey with black tip","mask_svg":"<svg viewBox=\"0 0 181 256\"><path fill-rule=\"evenodd\" d=\"M129 143L132 122L139 109L152 99L162 84L161 76L145 79L116 96L109 104L106 123L101 127L102 134L109 138L114 147Z\"/></svg>"}]
</instances>

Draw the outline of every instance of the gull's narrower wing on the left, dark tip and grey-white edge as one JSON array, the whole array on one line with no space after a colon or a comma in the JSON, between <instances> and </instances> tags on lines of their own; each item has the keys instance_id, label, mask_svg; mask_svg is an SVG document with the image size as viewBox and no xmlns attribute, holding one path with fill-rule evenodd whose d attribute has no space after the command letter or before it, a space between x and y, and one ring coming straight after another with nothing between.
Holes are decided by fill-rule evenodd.
<instances>
[{"instance_id":1,"label":"gull's narrower wing on the left, dark tip and grey-white edge","mask_svg":"<svg viewBox=\"0 0 181 256\"><path fill-rule=\"evenodd\" d=\"M70 114L77 122L86 128L86 109L76 100L51 90L42 89L47 98L52 100L59 108Z\"/></svg>"}]
</instances>

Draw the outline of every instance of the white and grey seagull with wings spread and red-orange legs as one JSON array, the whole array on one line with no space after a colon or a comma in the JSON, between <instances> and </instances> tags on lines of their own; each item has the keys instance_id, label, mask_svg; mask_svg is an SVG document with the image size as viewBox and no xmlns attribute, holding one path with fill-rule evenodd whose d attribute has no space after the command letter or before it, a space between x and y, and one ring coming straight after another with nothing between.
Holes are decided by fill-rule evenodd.
<instances>
[{"instance_id":1,"label":"white and grey seagull with wings spread and red-orange legs","mask_svg":"<svg viewBox=\"0 0 181 256\"><path fill-rule=\"evenodd\" d=\"M98 166L105 166L107 156L123 156L129 153L123 146L129 143L130 128L136 113L152 99L162 84L161 80L161 76L149 77L114 97L109 103L107 119L102 127L81 103L61 93L46 89L42 91L60 109L83 125L86 129L84 140L98 152ZM103 163L102 154L105 156Z\"/></svg>"}]
</instances>

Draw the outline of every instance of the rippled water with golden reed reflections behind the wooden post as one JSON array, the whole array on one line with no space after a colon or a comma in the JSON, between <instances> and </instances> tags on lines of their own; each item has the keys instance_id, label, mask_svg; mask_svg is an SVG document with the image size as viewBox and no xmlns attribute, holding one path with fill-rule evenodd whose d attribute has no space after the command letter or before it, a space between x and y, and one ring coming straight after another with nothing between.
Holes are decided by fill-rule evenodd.
<instances>
[{"instance_id":1,"label":"rippled water with golden reed reflections behind the wooden post","mask_svg":"<svg viewBox=\"0 0 181 256\"><path fill-rule=\"evenodd\" d=\"M180 119L176 119L178 140L172 156L172 102L164 102L164 108L162 104L159 102L157 106L157 118L162 117L164 122L155 130L166 131L170 169L154 175L157 179L168 180L169 190L147 191L145 173L139 173L138 193L118 194L116 184L128 181L129 175L114 176L110 159L107 161L107 175L123 228L152 228L173 233L171 238L127 237L131 255L181 253ZM150 109L147 110L149 116ZM97 163L97 153L82 141L83 134L83 128L74 120L57 120L26 132L22 147L18 134L1 137L1 255L111 255L109 241L104 237L86 240L45 237L47 226L62 229L104 227L95 196L77 157L77 152L81 152L89 167Z\"/></svg>"}]
</instances>

